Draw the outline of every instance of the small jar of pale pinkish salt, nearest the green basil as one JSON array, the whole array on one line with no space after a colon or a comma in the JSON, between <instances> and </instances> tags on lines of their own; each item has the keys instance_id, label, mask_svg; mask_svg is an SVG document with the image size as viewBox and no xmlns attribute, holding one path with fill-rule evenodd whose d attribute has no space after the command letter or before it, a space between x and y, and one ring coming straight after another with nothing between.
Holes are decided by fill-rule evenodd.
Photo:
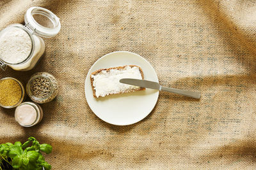
<instances>
[{"instance_id":1,"label":"small jar of pale pinkish salt, nearest the green basil","mask_svg":"<svg viewBox=\"0 0 256 170\"><path fill-rule=\"evenodd\" d=\"M31 127L38 124L43 118L42 108L32 102L24 102L15 110L15 120L23 127Z\"/></svg>"}]
</instances>

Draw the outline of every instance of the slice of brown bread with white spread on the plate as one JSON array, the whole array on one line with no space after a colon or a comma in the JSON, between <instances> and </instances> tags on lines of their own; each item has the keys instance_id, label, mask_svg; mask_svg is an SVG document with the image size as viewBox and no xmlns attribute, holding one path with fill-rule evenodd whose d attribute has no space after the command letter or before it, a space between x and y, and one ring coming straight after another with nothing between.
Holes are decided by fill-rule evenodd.
<instances>
[{"instance_id":1,"label":"slice of brown bread with white spread on the plate","mask_svg":"<svg viewBox=\"0 0 256 170\"><path fill-rule=\"evenodd\" d=\"M111 94L123 94L145 90L145 88L120 83L122 78L144 79L141 67L135 65L99 69L90 75L93 97L104 97Z\"/></svg>"}]
</instances>

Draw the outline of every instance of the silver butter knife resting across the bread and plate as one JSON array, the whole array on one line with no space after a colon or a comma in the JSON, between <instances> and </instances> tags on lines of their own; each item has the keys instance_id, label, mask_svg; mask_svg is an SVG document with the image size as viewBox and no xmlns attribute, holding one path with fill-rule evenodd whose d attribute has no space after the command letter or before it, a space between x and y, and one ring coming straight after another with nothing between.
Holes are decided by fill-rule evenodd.
<instances>
[{"instance_id":1,"label":"silver butter knife resting across the bread and plate","mask_svg":"<svg viewBox=\"0 0 256 170\"><path fill-rule=\"evenodd\" d=\"M163 87L163 86L159 85L159 83L154 82L154 81L139 80L139 79L134 79L134 78L122 78L119 81L120 81L120 83L125 83L127 85L135 85L138 87L144 87L144 88L148 88L148 89L156 89L156 90L164 91L164 92L172 92L172 93L181 94L181 95L187 96L187 97L193 97L195 99L200 99L199 92L191 92L189 90L181 90L181 89L173 89L170 87Z\"/></svg>"}]
</instances>

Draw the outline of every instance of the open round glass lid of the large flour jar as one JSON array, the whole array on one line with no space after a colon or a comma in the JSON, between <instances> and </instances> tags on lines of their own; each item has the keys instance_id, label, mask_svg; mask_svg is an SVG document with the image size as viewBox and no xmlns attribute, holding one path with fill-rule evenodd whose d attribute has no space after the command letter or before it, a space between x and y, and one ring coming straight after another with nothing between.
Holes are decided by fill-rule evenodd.
<instances>
[{"instance_id":1,"label":"open round glass lid of the large flour jar","mask_svg":"<svg viewBox=\"0 0 256 170\"><path fill-rule=\"evenodd\" d=\"M45 8L33 6L25 15L25 23L28 29L43 37L53 37L60 32L60 18L52 11Z\"/></svg>"}]
</instances>

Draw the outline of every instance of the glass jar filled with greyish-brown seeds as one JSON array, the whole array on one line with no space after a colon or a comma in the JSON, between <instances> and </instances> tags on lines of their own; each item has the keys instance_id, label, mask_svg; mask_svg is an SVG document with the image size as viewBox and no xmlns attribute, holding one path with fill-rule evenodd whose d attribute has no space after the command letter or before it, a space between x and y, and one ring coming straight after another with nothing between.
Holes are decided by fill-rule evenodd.
<instances>
[{"instance_id":1,"label":"glass jar filled with greyish-brown seeds","mask_svg":"<svg viewBox=\"0 0 256 170\"><path fill-rule=\"evenodd\" d=\"M26 90L28 96L35 103L47 103L57 96L58 83L52 74L35 73L29 79Z\"/></svg>"}]
</instances>

